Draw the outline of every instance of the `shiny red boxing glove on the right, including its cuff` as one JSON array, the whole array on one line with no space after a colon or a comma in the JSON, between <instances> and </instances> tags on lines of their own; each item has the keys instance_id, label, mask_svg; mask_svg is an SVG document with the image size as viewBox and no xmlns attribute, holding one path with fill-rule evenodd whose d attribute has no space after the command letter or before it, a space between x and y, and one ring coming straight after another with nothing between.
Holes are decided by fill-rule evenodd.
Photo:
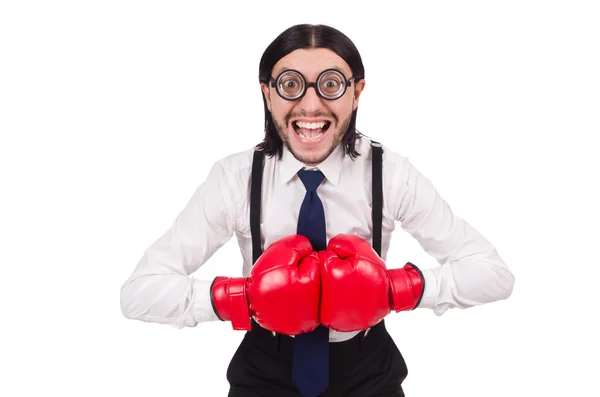
<instances>
[{"instance_id":1,"label":"shiny red boxing glove on the right, including its cuff","mask_svg":"<svg viewBox=\"0 0 600 397\"><path fill-rule=\"evenodd\" d=\"M326 327L345 332L369 328L392 310L414 309L423 295L423 275L416 266L388 270L358 236L335 236L319 257L321 323Z\"/></svg>"}]
</instances>

